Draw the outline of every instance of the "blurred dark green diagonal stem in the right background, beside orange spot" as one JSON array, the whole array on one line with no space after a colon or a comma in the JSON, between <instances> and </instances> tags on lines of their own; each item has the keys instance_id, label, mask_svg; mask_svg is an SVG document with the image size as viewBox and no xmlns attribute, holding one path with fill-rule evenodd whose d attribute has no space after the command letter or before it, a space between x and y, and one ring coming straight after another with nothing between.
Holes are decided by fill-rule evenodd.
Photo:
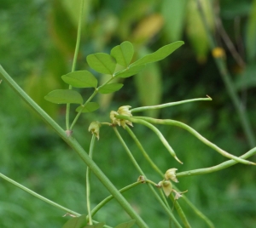
<instances>
[{"instance_id":1,"label":"blurred dark green diagonal stem in the right background, beside orange spot","mask_svg":"<svg viewBox=\"0 0 256 228\"><path fill-rule=\"evenodd\" d=\"M210 31L209 26L207 25L205 14L203 13L203 10L201 8L201 2L199 0L196 0L196 3L199 9L199 13L201 15L201 21L205 27L205 30L207 31L208 41L210 43L211 48L214 49L217 47L217 45L212 36L212 32ZM241 105L241 101L236 93L236 88L234 86L234 83L232 82L230 72L228 71L224 58L214 58L214 60L216 62L216 65L218 66L218 71L224 81L228 94L230 95L230 99L232 100L233 105L235 105L236 111L241 121L241 127L243 128L243 131L247 137L247 141L249 145L253 147L256 145L255 135L253 134L253 129L247 118L245 108Z\"/></svg>"}]
</instances>

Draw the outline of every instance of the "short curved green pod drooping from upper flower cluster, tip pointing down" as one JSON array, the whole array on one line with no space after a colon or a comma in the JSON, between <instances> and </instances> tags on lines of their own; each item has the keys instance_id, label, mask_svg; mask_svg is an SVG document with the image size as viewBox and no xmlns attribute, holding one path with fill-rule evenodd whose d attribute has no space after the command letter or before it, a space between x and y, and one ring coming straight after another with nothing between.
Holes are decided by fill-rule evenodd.
<instances>
[{"instance_id":1,"label":"short curved green pod drooping from upper flower cluster, tip pointing down","mask_svg":"<svg viewBox=\"0 0 256 228\"><path fill-rule=\"evenodd\" d=\"M170 152L170 154L172 155L172 157L174 157L177 162L180 162L183 164L183 162L181 162L175 152L172 149L172 146L169 145L169 143L167 142L166 138L164 137L163 134L161 134L160 130L158 128L155 128L154 125L152 125L151 123L148 123L147 121L144 121L143 119L138 119L138 118L133 118L133 117L127 117L127 116L123 116L123 115L117 115L115 116L118 119L125 119L125 120L129 120L132 123L139 123L139 124L143 124L144 126L150 128L152 131L154 131L154 133L159 137L160 141L162 142L163 145L165 145L167 151Z\"/></svg>"}]
</instances>

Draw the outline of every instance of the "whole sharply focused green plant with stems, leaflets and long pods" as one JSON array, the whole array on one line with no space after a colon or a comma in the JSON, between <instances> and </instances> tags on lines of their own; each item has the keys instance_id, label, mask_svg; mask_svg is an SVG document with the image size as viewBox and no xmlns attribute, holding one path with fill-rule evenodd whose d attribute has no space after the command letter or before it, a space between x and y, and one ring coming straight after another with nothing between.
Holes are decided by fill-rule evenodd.
<instances>
[{"instance_id":1,"label":"whole sharply focused green plant with stems, leaflets and long pods","mask_svg":"<svg viewBox=\"0 0 256 228\"><path fill-rule=\"evenodd\" d=\"M191 176L195 174L208 174L208 173L216 172L221 169L228 168L238 162L247 164L247 165L255 165L254 162L249 162L246 159L247 157L251 157L253 156L253 154L256 153L256 147L248 151L243 156L236 157L228 153L227 151L222 150L217 145L213 144L212 142L204 138L201 134L196 132L194 128L189 127L187 124L177 122L171 119L155 119L152 117L133 116L134 113L140 112L140 111L159 110L159 109L170 107L172 105L181 105L184 103L189 103L189 102L194 102L199 100L212 100L210 97L207 97L204 99L183 100L178 102L166 103L162 105L148 105L148 106L137 107L137 108L131 108L130 105L120 106L117 111L110 112L109 123L101 122L99 120L96 120L90 123L89 131L92 134L92 138L90 142L89 154L87 154L82 148L82 146L79 144L79 142L73 137L73 128L75 124L78 122L78 119L82 113L93 112L100 107L100 105L97 102L92 101L96 97L96 95L112 94L113 92L118 91L120 88L123 87L124 84L113 83L114 79L132 77L140 73L141 71L143 71L144 67L148 67L148 65L150 66L150 64L163 60L167 56L172 54L173 51L175 51L177 48L183 45L183 42L175 42L175 43L167 44L162 48L159 48L154 53L145 54L143 57L135 61L133 61L133 55L135 54L133 45L128 41L125 41L115 46L114 48L112 48L110 50L110 54L96 53L96 54L88 55L86 60L91 69L93 69L98 73L106 74L110 76L107 81L99 85L98 80L94 75L95 74L94 72L87 71L87 70L76 71L76 65L77 65L77 60L79 56L81 28L83 26L83 23L82 23L83 10L84 10L84 1L81 1L80 14L79 14L79 29L78 29L78 35L77 35L76 48L75 48L74 57L73 57L72 71L61 77L64 83L67 83L69 85L68 89L55 89L49 92L49 94L47 94L44 97L45 100L48 100L55 104L67 104L66 130L61 128L61 126L58 123L56 123L52 118L50 118L46 114L46 112L42 110L40 106L38 106L18 86L18 84L15 83L15 81L11 77L9 77L9 74L3 70L2 66L0 66L0 72L2 74L4 82L8 83L9 86L13 88L15 92L19 94L20 97L23 100L25 100L26 103L30 105L34 111L38 113L39 117L41 117L44 120L44 122L48 123L49 126L54 129L55 133L58 134L64 141L66 141L67 145L70 145L73 148L73 150L79 154L81 159L88 166L87 172L86 172L86 200L87 200L88 214L81 215L68 208L64 208L61 205L55 202L52 202L45 197L38 195L36 192L26 188L24 185L20 185L14 180L9 179L4 174L0 174L0 176L4 180L9 181L9 183L16 185L20 187L20 189L32 194L32 196L38 197L44 202L47 202L56 208L60 208L61 210L64 210L67 213L67 215L74 217L73 219L69 219L67 223L63 225L64 228L109 227L108 225L105 225L102 222L93 220L92 217L94 214L96 214L96 212L99 209L101 209L113 197L119 202L120 206L127 212L127 214L131 216L131 219L132 219L131 221L115 226L116 228L131 227L135 223L137 223L139 227L148 227L147 223L134 210L134 208L131 207L131 205L125 200L125 197L123 197L121 194L124 191L131 190L131 188L144 183L147 183L148 188L150 189L150 191L152 191L154 197L160 203L160 206L162 207L162 209L166 212L168 218L171 221L170 227L172 226L172 224L174 224L176 227L183 227L183 226L190 227L189 221L186 218L185 214L183 213L183 208L177 202L177 199L180 197L183 197L183 193L185 193L186 191L182 191L182 192L178 191L176 186L172 183L172 181L178 182L177 178L181 178L184 176ZM73 20L75 20L75 18L76 18L75 15L73 15ZM145 25L144 23L147 24L147 22L143 21L142 25ZM141 28L144 29L144 26L142 25L141 25ZM147 32L147 30L145 32ZM136 34L140 34L140 32L137 31ZM135 37L137 36L138 35L136 35ZM143 42L143 38L140 39L140 42ZM148 84L146 83L146 81L144 82L142 81L141 86L142 88L148 87ZM74 88L85 88L85 90L91 91L91 94L90 96L84 99L83 94L80 94L79 90ZM71 104L77 104L79 106L76 108L77 114L73 118L73 122L70 124ZM170 155L174 157L179 163L183 163L183 162L179 160L175 151L173 151L172 146L168 143L165 136L160 132L160 129L154 126L155 124L174 125L174 126L183 128L187 130L190 134L193 134L198 140L201 140L201 142L208 145L213 150L217 151L222 156L229 158L230 161L220 163L217 166L213 166L210 168L200 168L195 170L184 171L177 174L176 174L177 168L168 168L167 170L165 170L165 174L164 174L161 171L161 168L156 165L156 163L154 162L154 159L150 158L148 156L147 151L145 151L145 149L143 148L143 140L142 141L138 140L136 134L134 134L133 131L131 130L131 127L137 124L144 125L145 127L152 130L154 134L157 135L162 145L166 147L166 150L170 153ZM132 164L135 166L135 168L137 168L137 172L140 174L136 183L127 185L125 188L119 191L114 187L114 185L110 182L110 180L108 180L108 177L102 172L102 170L97 166L96 162L94 162L92 159L94 147L96 144L96 139L100 140L100 129L102 127L113 128L113 131L117 136L117 139L119 140L121 145L123 145L125 151L127 152L128 156L131 159ZM141 166L139 165L135 157L133 157L131 150L129 149L128 145L125 143L125 140L122 138L121 134L119 134L119 130L118 130L119 127L125 128L127 133L131 135L131 138L135 141L135 144L138 146L139 150L142 151L143 156L145 157L145 160L152 166L152 170L154 170L157 174L160 174L160 180L158 180L157 182L154 182L153 180L149 180L147 178L146 174L143 172L143 169L141 168ZM106 199L104 199L102 202L100 202L96 206L96 208L93 208L93 209L91 209L91 206L90 206L90 193L91 193L90 183L92 181L90 180L90 171L92 171L96 175L96 177L102 182L102 185L104 185L108 189L108 191L111 193L110 197L107 197ZM124 172L125 172L125 169L124 169ZM160 191L157 192L156 189L160 189ZM188 189L189 189L189 186L188 186ZM174 194L174 196L172 195L172 193ZM183 226L180 225L180 222L176 219L176 217L172 213L172 208L170 207L166 197L167 199L170 199L173 202L173 205L177 210L177 214L181 219ZM185 202L188 203L188 206L192 208L195 211L195 213L198 214L200 218L207 223L209 227L213 227L212 222L209 219L207 219L206 216L201 214L201 212L199 212L195 208L195 206L191 202L189 202L188 199L186 199L186 197L183 197L183 198L185 199Z\"/></svg>"}]
</instances>

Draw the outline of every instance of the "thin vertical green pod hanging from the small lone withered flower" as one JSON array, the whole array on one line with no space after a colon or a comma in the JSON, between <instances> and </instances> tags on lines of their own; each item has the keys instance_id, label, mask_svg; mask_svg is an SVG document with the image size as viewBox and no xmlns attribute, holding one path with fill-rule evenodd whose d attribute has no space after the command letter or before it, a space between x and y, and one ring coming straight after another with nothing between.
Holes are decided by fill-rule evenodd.
<instances>
[{"instance_id":1,"label":"thin vertical green pod hanging from the small lone withered flower","mask_svg":"<svg viewBox=\"0 0 256 228\"><path fill-rule=\"evenodd\" d=\"M96 135L92 134L91 141L90 141L90 150L89 150L89 157L92 159L93 156L93 149L95 145ZM92 215L90 210L90 168L87 167L86 169L86 200L87 200L87 210L88 210L88 217L89 217L89 225L92 225Z\"/></svg>"}]
</instances>

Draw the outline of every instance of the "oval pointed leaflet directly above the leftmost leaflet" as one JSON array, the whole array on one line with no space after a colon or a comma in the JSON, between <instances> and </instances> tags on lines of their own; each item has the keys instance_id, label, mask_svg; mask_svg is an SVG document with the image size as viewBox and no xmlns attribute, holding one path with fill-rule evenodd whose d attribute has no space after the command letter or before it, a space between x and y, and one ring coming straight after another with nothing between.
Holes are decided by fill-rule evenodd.
<instances>
[{"instance_id":1,"label":"oval pointed leaflet directly above the leftmost leaflet","mask_svg":"<svg viewBox=\"0 0 256 228\"><path fill-rule=\"evenodd\" d=\"M90 71L74 71L61 76L62 80L77 88L96 88L97 79Z\"/></svg>"}]
</instances>

